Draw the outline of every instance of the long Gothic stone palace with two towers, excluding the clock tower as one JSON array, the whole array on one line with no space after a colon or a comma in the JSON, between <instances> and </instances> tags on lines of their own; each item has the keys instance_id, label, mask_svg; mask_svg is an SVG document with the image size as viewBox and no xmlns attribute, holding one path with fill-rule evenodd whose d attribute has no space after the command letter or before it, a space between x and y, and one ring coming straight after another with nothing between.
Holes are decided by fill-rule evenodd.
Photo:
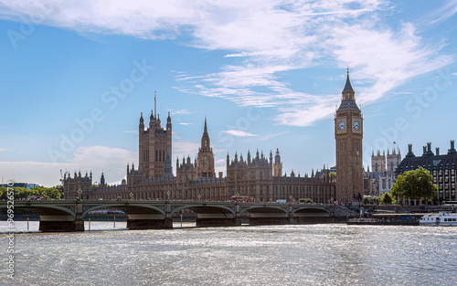
<instances>
[{"instance_id":1,"label":"long Gothic stone palace with two towers, excluding the clock tower","mask_svg":"<svg viewBox=\"0 0 457 286\"><path fill-rule=\"evenodd\" d=\"M272 154L266 158L257 152L247 160L230 161L227 156L227 176L215 172L214 154L207 132L205 119L201 146L194 162L190 156L176 159L176 175L171 167L172 122L170 114L166 128L161 126L159 116L151 112L150 122L144 128L143 114L139 125L139 166L127 165L127 180L122 185L105 185L104 176L100 185L92 185L92 177L68 173L64 176L64 198L74 199L175 199L227 201L230 196L252 196L255 201L269 202L277 199L311 198L317 203L326 203L335 198L335 183L329 180L328 170L316 175L282 175L279 150L273 162Z\"/></svg>"}]
</instances>

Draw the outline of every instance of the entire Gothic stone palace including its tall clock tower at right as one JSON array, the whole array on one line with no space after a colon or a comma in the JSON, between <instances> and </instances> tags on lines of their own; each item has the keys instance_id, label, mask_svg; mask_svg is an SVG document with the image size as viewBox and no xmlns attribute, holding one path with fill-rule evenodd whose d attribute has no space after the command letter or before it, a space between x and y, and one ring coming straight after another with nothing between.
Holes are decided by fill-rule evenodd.
<instances>
[{"instance_id":1,"label":"entire Gothic stone palace including its tall clock tower at right","mask_svg":"<svg viewBox=\"0 0 457 286\"><path fill-rule=\"evenodd\" d=\"M294 201L310 198L314 203L338 200L352 201L363 194L362 137L363 118L355 100L349 72L342 92L342 101L335 111L336 178L331 170L322 168L311 175L282 174L279 149L255 154L227 154L226 176L216 174L211 140L205 118L197 159L190 156L175 161L172 167L172 120L170 113L165 127L156 113L151 111L149 122L144 124L143 113L139 122L138 165L127 165L126 180L121 185L106 185L104 174L100 184L92 185L92 175L66 173L63 178L64 198L73 199L174 199L227 201L230 196L249 196L256 202L274 202L278 199Z\"/></svg>"}]
</instances>

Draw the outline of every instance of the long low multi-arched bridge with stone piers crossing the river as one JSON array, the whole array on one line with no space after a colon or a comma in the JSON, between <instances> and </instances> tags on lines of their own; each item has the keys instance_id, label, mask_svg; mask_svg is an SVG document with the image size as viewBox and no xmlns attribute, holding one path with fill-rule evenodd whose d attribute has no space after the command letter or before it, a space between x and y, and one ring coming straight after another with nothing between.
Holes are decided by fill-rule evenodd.
<instances>
[{"instance_id":1,"label":"long low multi-arched bridge with stone piers crossing the river","mask_svg":"<svg viewBox=\"0 0 457 286\"><path fill-rule=\"evenodd\" d=\"M42 231L84 231L84 218L94 210L121 210L129 229L173 228L173 217L186 210L197 215L197 227L233 227L241 217L250 225L286 225L345 221L354 212L345 207L314 204L235 203L151 200L16 200L15 209L26 209L40 217ZM6 208L7 201L0 202Z\"/></svg>"}]
</instances>

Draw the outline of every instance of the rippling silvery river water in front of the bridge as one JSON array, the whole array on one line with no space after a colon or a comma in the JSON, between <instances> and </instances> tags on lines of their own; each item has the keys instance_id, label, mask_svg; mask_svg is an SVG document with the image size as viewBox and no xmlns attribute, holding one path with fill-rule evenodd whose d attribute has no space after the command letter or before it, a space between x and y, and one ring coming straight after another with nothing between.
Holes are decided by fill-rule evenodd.
<instances>
[{"instance_id":1,"label":"rippling silvery river water in front of the bridge","mask_svg":"<svg viewBox=\"0 0 457 286\"><path fill-rule=\"evenodd\" d=\"M15 279L4 267L0 284L454 285L457 274L457 228L179 227L92 222L90 232L16 233ZM27 222L16 229L27 230ZM0 231L6 237L5 222ZM5 265L7 238L1 241Z\"/></svg>"}]
</instances>

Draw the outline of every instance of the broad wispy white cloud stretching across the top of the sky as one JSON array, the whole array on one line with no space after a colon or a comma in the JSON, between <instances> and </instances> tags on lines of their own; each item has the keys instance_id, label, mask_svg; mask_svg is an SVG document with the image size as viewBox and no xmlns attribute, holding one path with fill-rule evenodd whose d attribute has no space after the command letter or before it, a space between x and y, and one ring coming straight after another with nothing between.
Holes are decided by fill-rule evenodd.
<instances>
[{"instance_id":1,"label":"broad wispy white cloud stretching across the top of the sky","mask_svg":"<svg viewBox=\"0 0 457 286\"><path fill-rule=\"evenodd\" d=\"M457 13L455 1L448 1L423 21L390 27L383 18L395 10L387 0L175 0L161 3L160 8L150 1L52 3L0 1L0 18L21 21L27 15L40 24L81 34L170 39L190 33L186 45L227 50L225 57L233 62L210 74L172 71L179 82L176 90L240 106L275 108L280 111L278 123L298 126L330 117L338 92L297 92L282 73L349 65L355 71L352 79L364 83L356 88L357 102L371 104L406 80L452 62L451 56L441 53L442 43L434 45L419 36L418 26L424 28Z\"/></svg>"}]
</instances>

